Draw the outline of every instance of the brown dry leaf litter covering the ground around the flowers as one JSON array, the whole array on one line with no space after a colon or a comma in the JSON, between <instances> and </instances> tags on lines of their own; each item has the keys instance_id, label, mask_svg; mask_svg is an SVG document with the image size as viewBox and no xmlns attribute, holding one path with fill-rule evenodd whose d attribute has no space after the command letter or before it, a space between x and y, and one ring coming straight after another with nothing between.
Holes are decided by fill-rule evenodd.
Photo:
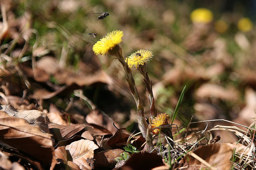
<instances>
[{"instance_id":1,"label":"brown dry leaf litter covering the ground around the flowers","mask_svg":"<svg viewBox=\"0 0 256 170\"><path fill-rule=\"evenodd\" d=\"M63 10L65 6L63 4L66 3L75 2L63 1L62 7L58 8ZM134 5L129 2L123 3ZM152 5L151 3L154 2L150 2L149 5ZM125 10L118 3L109 2L109 4L116 9ZM200 125L188 126L186 135L182 132L177 135L174 141L176 148L166 149L167 138L160 135L163 139L162 143L158 143L159 137L155 137L154 140L154 144L159 145L156 147L159 149L158 154L141 153L145 139L142 136L130 138L132 135L124 131L125 128L122 126L124 122L115 122L114 120L118 119L112 119L115 117L110 117L103 111L95 109L97 108L95 102L97 93L91 99L86 98L88 103L94 105L91 108L84 106L82 99L74 95L76 89L87 88L84 90L87 93L90 88L104 86L116 96L121 94L126 98L131 98L127 95L129 94L127 90L122 89L127 85L120 81L123 79L123 73L116 71L119 66L113 62L112 70L103 70L102 64L108 65L108 59L97 59L95 56L92 59L92 54L88 51L84 56L86 62L78 61L76 67L66 66L67 58L63 59L64 48L63 53L61 51L60 60L57 60L51 54L54 48L57 49L56 47L48 46L48 49L47 46L42 44L40 46L37 43L33 47L28 46L28 40L33 38L33 34L37 34L31 29L33 25L31 14L24 12L20 17L16 17L12 5L14 4L11 1L5 1L5 3L1 1L3 20L0 21L0 39L1 42L5 42L3 46L1 45L0 54L0 167L2 169L113 169L114 167L119 169L169 169L170 165L166 163L168 152L171 154L173 169L243 169L246 166L254 169L255 121L252 122L255 117L255 70L247 67L246 62L241 62L240 67L232 68L232 70L234 60L227 50L226 40L217 38L217 34L212 32L209 25L206 27L193 25L193 29L188 31L184 37L183 44L187 50L199 51L199 54L195 56L180 48L170 38L157 35L156 30L142 33L148 40L159 44L159 49L165 48L162 51L159 50L159 58L173 65L173 67L164 66L166 70L161 73L158 68L162 68L162 65L155 63L156 67L151 70L156 72L156 76L160 79L153 80L154 91L159 93L155 95L155 100L159 99L158 104L163 110L164 104L160 101L163 101L163 97L169 95L170 91L164 95L164 93L161 94L161 90L174 86L175 93L178 94L180 92L178 87L189 81L192 87L190 90L195 88L194 94L189 95L194 96L193 99L197 103L194 109L199 120L199 122L190 123ZM90 7L90 4L87 5ZM143 3L137 5L140 6ZM161 6L160 3L157 5ZM65 10L65 12L71 11ZM167 12L173 13L169 9ZM120 17L127 19L122 13ZM47 22L47 24L50 27L54 23ZM88 23L89 28L99 30L97 30L99 35L105 33L104 25L101 23L96 23L96 25L98 28ZM158 25L161 26L161 24ZM138 45L148 47L150 41L145 42L145 37L137 37L131 28L126 28L126 30L127 32L130 30L130 36L133 37L130 42L131 47L137 48ZM206 34L209 36L202 39ZM240 36L237 35L235 41L238 46L243 50L251 50L243 47L238 41L239 38L244 39L246 36L242 33L239 34ZM69 47L72 46L72 38L76 37L67 37L70 39L67 40L70 41ZM127 40L127 43L129 41L131 40ZM252 53L253 49L249 52ZM243 53L246 52L242 51L239 56ZM170 54L175 54L175 58ZM253 63L253 60L249 60L249 65L253 66ZM230 72L228 72L229 69L231 69ZM225 74L225 71L229 74L228 79L243 83L236 86L232 83L221 82L220 76ZM115 75L119 80L114 80L110 75ZM137 79L139 81L139 78ZM244 91L240 89L241 86L246 86ZM145 92L142 86L139 87L140 93ZM242 94L244 94L245 101L241 100ZM84 94L84 96L87 95L90 96L88 93ZM145 96L142 96L142 99L146 101ZM171 94L165 100L167 104L175 105L177 99L176 94ZM223 103L232 108L228 110L232 121L225 125L220 123L223 120L222 113L227 112L223 109ZM182 109L184 110L184 108L180 110ZM232 117L233 114L236 116ZM212 121L216 119L216 121L213 124L205 121L209 119ZM136 122L136 118L134 120ZM180 130L183 127L178 128ZM210 144L213 136L220 131L224 132L220 135L220 141L225 138L227 132L230 132L235 137L237 136L232 139L239 139L240 143ZM233 142L230 139L227 140Z\"/></svg>"}]
</instances>

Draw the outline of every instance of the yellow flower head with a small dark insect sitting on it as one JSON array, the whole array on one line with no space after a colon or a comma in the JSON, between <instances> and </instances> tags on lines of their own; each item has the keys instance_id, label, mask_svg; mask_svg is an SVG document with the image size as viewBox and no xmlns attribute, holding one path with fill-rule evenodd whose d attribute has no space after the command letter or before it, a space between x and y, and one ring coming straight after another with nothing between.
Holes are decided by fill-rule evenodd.
<instances>
[{"instance_id":1,"label":"yellow flower head with a small dark insect sitting on it","mask_svg":"<svg viewBox=\"0 0 256 170\"><path fill-rule=\"evenodd\" d=\"M148 49L140 49L135 53L132 53L129 57L126 57L125 61L129 68L137 69L139 65L144 65L154 56L153 52Z\"/></svg>"}]
</instances>

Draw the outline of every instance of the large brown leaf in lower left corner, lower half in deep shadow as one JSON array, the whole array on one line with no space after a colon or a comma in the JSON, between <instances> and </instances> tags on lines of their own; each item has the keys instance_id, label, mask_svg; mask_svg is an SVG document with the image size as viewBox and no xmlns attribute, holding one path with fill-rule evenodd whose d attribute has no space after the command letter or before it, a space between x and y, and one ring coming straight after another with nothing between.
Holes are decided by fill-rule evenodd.
<instances>
[{"instance_id":1,"label":"large brown leaf in lower left corner, lower half in deep shadow","mask_svg":"<svg viewBox=\"0 0 256 170\"><path fill-rule=\"evenodd\" d=\"M31 126L25 119L11 117L3 111L0 111L0 142L27 153L48 168L55 161L51 134L43 133L38 126Z\"/></svg>"}]
</instances>

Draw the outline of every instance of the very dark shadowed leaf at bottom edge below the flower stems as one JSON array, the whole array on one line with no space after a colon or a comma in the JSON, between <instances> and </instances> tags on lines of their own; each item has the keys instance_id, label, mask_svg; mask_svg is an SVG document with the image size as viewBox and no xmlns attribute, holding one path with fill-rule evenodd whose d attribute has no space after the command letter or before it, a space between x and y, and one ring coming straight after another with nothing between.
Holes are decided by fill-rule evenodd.
<instances>
[{"instance_id":1,"label":"very dark shadowed leaf at bottom edge below the flower stems","mask_svg":"<svg viewBox=\"0 0 256 170\"><path fill-rule=\"evenodd\" d=\"M152 168L164 165L161 156L155 153L135 153L118 170L150 170Z\"/></svg>"}]
</instances>

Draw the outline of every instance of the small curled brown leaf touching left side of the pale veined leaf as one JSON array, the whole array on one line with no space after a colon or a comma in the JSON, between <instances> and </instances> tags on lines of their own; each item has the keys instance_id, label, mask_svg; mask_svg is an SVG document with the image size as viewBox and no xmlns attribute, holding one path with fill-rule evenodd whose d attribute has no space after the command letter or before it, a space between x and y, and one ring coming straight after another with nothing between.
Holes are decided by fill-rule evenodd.
<instances>
[{"instance_id":1,"label":"small curled brown leaf touching left side of the pale veined leaf","mask_svg":"<svg viewBox=\"0 0 256 170\"><path fill-rule=\"evenodd\" d=\"M77 164L75 164L72 161L69 161L69 160L72 160L72 158L68 158L65 146L58 147L57 149L55 149L54 153L55 153L55 159L57 160L57 162L61 162L64 165L67 165L68 168L72 170L73 169L80 170Z\"/></svg>"}]
</instances>

